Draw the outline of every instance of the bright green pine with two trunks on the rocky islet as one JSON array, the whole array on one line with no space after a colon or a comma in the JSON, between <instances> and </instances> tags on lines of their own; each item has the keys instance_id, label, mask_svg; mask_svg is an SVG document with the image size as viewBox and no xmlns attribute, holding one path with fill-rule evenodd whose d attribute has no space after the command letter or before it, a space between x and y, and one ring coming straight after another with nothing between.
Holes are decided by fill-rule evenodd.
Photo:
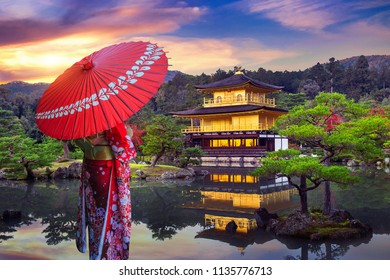
<instances>
[{"instance_id":1,"label":"bright green pine with two trunks on the rocky islet","mask_svg":"<svg viewBox=\"0 0 390 280\"><path fill-rule=\"evenodd\" d=\"M307 195L306 192L318 187L319 180L324 182L324 213L326 214L331 207L330 182L343 183L341 177L349 178L347 171L343 171L341 167L329 169L332 167L331 160L347 153L357 159L374 161L383 155L383 145L390 138L390 123L386 115L371 114L369 108L348 100L345 95L338 93L320 93L314 101L294 107L288 115L278 119L275 129L280 135L317 150L320 158L301 159L299 152L279 155L278 159L288 157L294 160L269 162L267 159L266 162L270 167L266 169L267 172L261 171L262 167L259 168L258 174L298 176L300 178L298 191L303 203L307 202L307 198L304 197ZM318 164L322 164L324 168L319 167ZM312 182L311 187L307 187L307 180ZM307 211L307 205L303 205L302 210Z\"/></svg>"}]
</instances>

